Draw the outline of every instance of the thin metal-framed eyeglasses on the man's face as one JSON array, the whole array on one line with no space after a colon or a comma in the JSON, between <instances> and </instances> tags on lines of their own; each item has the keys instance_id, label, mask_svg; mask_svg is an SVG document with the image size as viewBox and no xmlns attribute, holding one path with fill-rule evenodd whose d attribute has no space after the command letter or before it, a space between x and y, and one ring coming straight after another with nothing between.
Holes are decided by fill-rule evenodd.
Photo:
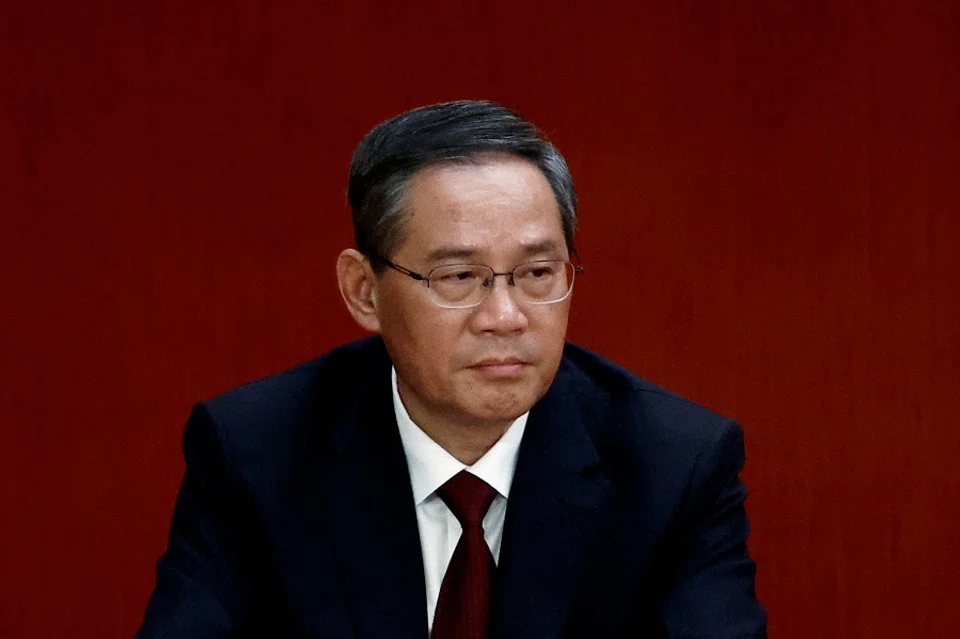
<instances>
[{"instance_id":1,"label":"thin metal-framed eyeglasses on the man's face","mask_svg":"<svg viewBox=\"0 0 960 639\"><path fill-rule=\"evenodd\" d=\"M431 269L426 275L415 273L390 260L378 258L382 264L418 282L425 282L429 297L441 308L479 306L493 290L493 281L507 278L520 300L529 304L556 304L570 296L573 278L583 273L582 266L566 260L524 262L512 271L497 273L484 264L448 264Z\"/></svg>"}]
</instances>

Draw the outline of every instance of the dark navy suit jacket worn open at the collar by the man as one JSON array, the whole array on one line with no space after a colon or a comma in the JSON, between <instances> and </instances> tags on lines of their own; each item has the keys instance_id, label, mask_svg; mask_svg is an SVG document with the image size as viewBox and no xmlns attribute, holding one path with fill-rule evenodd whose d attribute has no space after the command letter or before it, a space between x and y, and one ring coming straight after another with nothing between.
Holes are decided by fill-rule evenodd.
<instances>
[{"instance_id":1,"label":"dark navy suit jacket worn open at the collar by the man","mask_svg":"<svg viewBox=\"0 0 960 639\"><path fill-rule=\"evenodd\" d=\"M202 402L138 636L425 639L383 342ZM490 636L765 636L739 427L568 344L531 410Z\"/></svg>"}]
</instances>

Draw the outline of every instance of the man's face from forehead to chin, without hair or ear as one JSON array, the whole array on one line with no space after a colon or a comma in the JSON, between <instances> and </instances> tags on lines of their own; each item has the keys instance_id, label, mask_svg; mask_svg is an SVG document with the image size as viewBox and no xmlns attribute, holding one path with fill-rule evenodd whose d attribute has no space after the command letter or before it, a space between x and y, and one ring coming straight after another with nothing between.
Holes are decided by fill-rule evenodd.
<instances>
[{"instance_id":1,"label":"man's face from forehead to chin, without hair or ear","mask_svg":"<svg viewBox=\"0 0 960 639\"><path fill-rule=\"evenodd\" d=\"M569 254L553 191L521 158L419 171L406 198L404 241L390 256L426 275L444 264L496 272ZM440 308L423 282L393 269L378 278L380 333L414 420L505 425L547 391L563 352L570 298L535 305L498 277L479 306Z\"/></svg>"}]
</instances>

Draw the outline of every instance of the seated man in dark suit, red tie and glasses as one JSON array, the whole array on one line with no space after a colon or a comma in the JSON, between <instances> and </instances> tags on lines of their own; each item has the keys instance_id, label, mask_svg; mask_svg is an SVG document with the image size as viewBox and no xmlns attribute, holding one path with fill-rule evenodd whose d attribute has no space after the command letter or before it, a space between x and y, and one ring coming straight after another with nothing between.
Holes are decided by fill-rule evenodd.
<instances>
[{"instance_id":1,"label":"seated man in dark suit, red tie and glasses","mask_svg":"<svg viewBox=\"0 0 960 639\"><path fill-rule=\"evenodd\" d=\"M565 343L559 152L423 107L349 199L337 277L377 336L194 409L140 636L765 636L740 429Z\"/></svg>"}]
</instances>

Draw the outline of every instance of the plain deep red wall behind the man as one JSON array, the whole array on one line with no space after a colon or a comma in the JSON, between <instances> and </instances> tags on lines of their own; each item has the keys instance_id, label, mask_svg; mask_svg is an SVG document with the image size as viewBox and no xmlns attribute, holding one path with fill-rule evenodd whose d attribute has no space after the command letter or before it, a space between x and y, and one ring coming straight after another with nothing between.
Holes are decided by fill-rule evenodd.
<instances>
[{"instance_id":1,"label":"plain deep red wall behind the man","mask_svg":"<svg viewBox=\"0 0 960 639\"><path fill-rule=\"evenodd\" d=\"M352 148L461 97L571 164L571 337L742 421L772 635L960 636L958 3L376 4L3 3L0 636L134 632L191 404L360 335Z\"/></svg>"}]
</instances>

